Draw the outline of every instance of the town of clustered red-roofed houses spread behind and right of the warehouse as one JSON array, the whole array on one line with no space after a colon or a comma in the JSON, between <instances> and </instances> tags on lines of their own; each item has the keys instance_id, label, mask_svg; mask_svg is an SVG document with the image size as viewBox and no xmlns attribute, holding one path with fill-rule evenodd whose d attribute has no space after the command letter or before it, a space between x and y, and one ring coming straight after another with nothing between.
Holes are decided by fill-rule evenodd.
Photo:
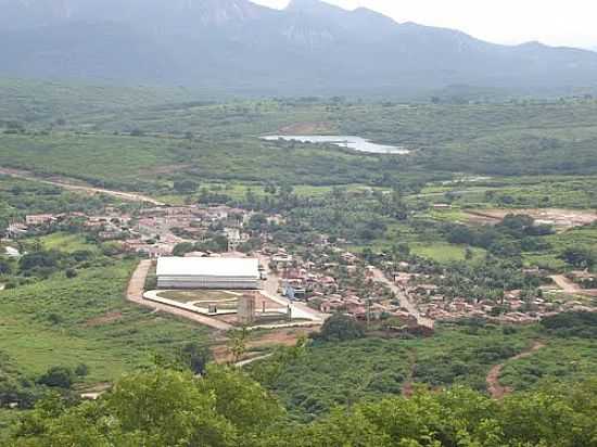
<instances>
[{"instance_id":1,"label":"town of clustered red-roofed houses spread behind and right of the warehouse","mask_svg":"<svg viewBox=\"0 0 597 447\"><path fill-rule=\"evenodd\" d=\"M524 274L541 279L542 285L533 296L521 290L504 291L498 299L446 296L444 272L424 272L416 264L389 260L385 253L365 259L346 250L343 241L331 243L325 234L317 244L292 253L267 230L263 231L264 227L253 225L255 219L284 225L280 215L264 216L221 205L143 206L125 212L107 206L98 215L27 215L23 221L9 225L4 243L7 254L14 257L18 256L21 239L75 226L98 241L114 244L117 253L139 254L148 259L175 256L192 264L192 258L254 257L259 263L259 283L255 289L261 292L250 307L263 307L263 315L266 307L268 311L274 309L280 317L271 321L278 325L283 322L285 327L321 324L336 312L376 328L408 331L433 330L435 321L462 318L522 324L567 310L595 310L597 280L587 271L549 276L538 268L526 269ZM228 289L234 293L233 286ZM160 301L156 294L152 296L154 302ZM217 328L228 328L226 324L231 322L226 315L216 315L213 308L206 311L209 303L203 303L203 309L198 299L191 306L185 301L168 303L221 320L216 322ZM302 309L296 308L300 303L303 303ZM287 311L294 311L295 317L300 315L302 319L285 321ZM253 317L250 320L253 322ZM211 320L203 321L209 323Z\"/></svg>"}]
</instances>

